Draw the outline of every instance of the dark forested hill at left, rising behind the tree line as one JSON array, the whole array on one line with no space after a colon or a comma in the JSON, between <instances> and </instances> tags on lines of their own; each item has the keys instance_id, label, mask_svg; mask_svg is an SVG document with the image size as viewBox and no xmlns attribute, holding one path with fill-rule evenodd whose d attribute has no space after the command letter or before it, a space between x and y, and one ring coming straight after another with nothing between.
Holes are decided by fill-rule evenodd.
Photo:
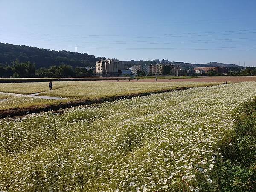
<instances>
[{"instance_id":1,"label":"dark forested hill at left, rising behind the tree line","mask_svg":"<svg viewBox=\"0 0 256 192\"><path fill-rule=\"evenodd\" d=\"M95 66L95 62L99 61L99 58L86 53L51 51L26 45L0 43L0 64L11 64L16 59L20 62L32 61L36 64L36 68L60 64L73 67Z\"/></svg>"}]
</instances>

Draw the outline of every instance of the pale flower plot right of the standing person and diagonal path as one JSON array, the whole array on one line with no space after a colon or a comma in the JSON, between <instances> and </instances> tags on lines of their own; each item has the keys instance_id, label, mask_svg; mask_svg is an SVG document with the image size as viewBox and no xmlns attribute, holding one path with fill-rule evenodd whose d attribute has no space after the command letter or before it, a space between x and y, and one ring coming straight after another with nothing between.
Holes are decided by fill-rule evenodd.
<instances>
[{"instance_id":1,"label":"pale flower plot right of the standing person and diagonal path","mask_svg":"<svg viewBox=\"0 0 256 192\"><path fill-rule=\"evenodd\" d=\"M104 82L104 81L75 81L67 83L67 87L42 93L44 96L57 96L76 99L97 99L112 96L123 96L148 93L161 90L172 90L181 87L200 87L217 83L198 82Z\"/></svg>"}]
</instances>

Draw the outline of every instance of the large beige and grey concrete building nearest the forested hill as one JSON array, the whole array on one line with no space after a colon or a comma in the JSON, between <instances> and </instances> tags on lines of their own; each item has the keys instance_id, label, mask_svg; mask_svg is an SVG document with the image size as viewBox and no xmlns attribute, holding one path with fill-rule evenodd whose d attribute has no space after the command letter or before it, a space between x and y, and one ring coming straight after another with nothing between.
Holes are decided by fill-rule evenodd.
<instances>
[{"instance_id":1,"label":"large beige and grey concrete building nearest the forested hill","mask_svg":"<svg viewBox=\"0 0 256 192\"><path fill-rule=\"evenodd\" d=\"M102 59L95 64L96 76L102 77L118 77L118 59Z\"/></svg>"}]
</instances>

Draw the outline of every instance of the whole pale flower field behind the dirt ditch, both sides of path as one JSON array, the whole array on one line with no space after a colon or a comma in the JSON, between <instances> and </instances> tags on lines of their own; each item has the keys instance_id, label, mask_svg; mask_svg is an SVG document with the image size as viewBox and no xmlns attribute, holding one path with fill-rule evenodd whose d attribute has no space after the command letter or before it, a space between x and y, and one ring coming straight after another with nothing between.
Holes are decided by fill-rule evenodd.
<instances>
[{"instance_id":1,"label":"whole pale flower field behind the dirt ditch, both sides of path","mask_svg":"<svg viewBox=\"0 0 256 192\"><path fill-rule=\"evenodd\" d=\"M61 102L73 99L104 99L106 97L123 96L131 94L148 93L161 90L178 89L180 87L198 87L214 85L216 83L198 82L104 82L104 81L57 81L53 82L53 90L49 90L47 82L36 83L2 83L0 92L32 94L43 92L42 96L55 96L69 98ZM3 94L6 99L9 96ZM38 98L12 97L0 103L0 109L23 108L36 105L58 103L58 101Z\"/></svg>"}]
</instances>

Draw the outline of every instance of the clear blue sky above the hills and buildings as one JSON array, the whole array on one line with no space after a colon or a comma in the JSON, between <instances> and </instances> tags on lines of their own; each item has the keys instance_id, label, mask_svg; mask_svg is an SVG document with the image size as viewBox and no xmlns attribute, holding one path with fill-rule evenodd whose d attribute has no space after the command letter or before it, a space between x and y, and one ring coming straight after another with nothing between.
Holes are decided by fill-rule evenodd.
<instances>
[{"instance_id":1,"label":"clear blue sky above the hills and buildings","mask_svg":"<svg viewBox=\"0 0 256 192\"><path fill-rule=\"evenodd\" d=\"M0 42L256 66L255 0L0 0Z\"/></svg>"}]
</instances>

